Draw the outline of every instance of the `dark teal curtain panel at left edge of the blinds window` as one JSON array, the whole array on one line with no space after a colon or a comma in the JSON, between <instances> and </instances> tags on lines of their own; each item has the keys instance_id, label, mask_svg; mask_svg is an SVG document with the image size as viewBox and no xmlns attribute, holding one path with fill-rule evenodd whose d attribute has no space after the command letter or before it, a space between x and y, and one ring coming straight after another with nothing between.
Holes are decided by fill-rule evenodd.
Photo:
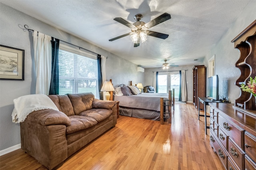
<instances>
[{"instance_id":1,"label":"dark teal curtain panel at left edge of the blinds window","mask_svg":"<svg viewBox=\"0 0 256 170\"><path fill-rule=\"evenodd\" d=\"M52 37L52 78L49 94L59 94L59 46L60 40Z\"/></svg>"}]
</instances>

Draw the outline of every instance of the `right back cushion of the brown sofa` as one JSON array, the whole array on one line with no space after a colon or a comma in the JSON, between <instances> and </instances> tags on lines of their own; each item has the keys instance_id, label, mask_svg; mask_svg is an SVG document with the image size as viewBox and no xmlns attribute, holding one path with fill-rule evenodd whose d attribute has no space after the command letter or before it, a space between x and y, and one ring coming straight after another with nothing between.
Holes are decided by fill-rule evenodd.
<instances>
[{"instance_id":1,"label":"right back cushion of the brown sofa","mask_svg":"<svg viewBox=\"0 0 256 170\"><path fill-rule=\"evenodd\" d=\"M68 94L76 115L82 111L92 109L92 93Z\"/></svg>"}]
</instances>

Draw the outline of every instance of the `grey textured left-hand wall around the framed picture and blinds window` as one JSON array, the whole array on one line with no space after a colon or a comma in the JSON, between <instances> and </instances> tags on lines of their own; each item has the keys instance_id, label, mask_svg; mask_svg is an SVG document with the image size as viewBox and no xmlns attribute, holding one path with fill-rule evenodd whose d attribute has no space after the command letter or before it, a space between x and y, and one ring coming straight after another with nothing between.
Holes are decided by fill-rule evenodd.
<instances>
[{"instance_id":1,"label":"grey textured left-hand wall around the framed picture and blinds window","mask_svg":"<svg viewBox=\"0 0 256 170\"><path fill-rule=\"evenodd\" d=\"M130 80L133 82L143 80L143 73L137 72L136 64L1 3L0 23L0 44L25 50L25 80L0 80L0 150L20 144L20 124L12 123L11 117L14 108L13 100L20 96L35 94L33 37L32 32L22 29L24 24L27 24L30 29L108 56L106 79L112 78L114 84L128 84Z\"/></svg>"}]
</instances>

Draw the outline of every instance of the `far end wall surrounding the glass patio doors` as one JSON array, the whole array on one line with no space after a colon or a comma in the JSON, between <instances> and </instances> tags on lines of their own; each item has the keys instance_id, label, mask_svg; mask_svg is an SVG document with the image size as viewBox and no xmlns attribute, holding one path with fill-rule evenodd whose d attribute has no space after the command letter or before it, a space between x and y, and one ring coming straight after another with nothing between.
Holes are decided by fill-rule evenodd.
<instances>
[{"instance_id":1,"label":"far end wall surrounding the glass patio doors","mask_svg":"<svg viewBox=\"0 0 256 170\"><path fill-rule=\"evenodd\" d=\"M186 85L187 85L187 101L193 101L193 65L170 67L169 71L172 70L187 70L186 71ZM163 71L162 68L147 68L144 72L144 84L143 86L153 86L153 71Z\"/></svg>"}]
</instances>

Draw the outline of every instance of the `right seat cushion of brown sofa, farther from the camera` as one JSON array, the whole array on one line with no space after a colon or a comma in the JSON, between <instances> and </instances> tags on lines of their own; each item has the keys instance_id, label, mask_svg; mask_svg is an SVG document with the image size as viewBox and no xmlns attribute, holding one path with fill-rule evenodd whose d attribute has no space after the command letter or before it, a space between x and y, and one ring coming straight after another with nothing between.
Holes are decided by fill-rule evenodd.
<instances>
[{"instance_id":1,"label":"right seat cushion of brown sofa, farther from the camera","mask_svg":"<svg viewBox=\"0 0 256 170\"><path fill-rule=\"evenodd\" d=\"M101 122L112 115L112 110L107 109L90 109L79 113L80 116L88 116L95 119L97 122Z\"/></svg>"}]
</instances>

